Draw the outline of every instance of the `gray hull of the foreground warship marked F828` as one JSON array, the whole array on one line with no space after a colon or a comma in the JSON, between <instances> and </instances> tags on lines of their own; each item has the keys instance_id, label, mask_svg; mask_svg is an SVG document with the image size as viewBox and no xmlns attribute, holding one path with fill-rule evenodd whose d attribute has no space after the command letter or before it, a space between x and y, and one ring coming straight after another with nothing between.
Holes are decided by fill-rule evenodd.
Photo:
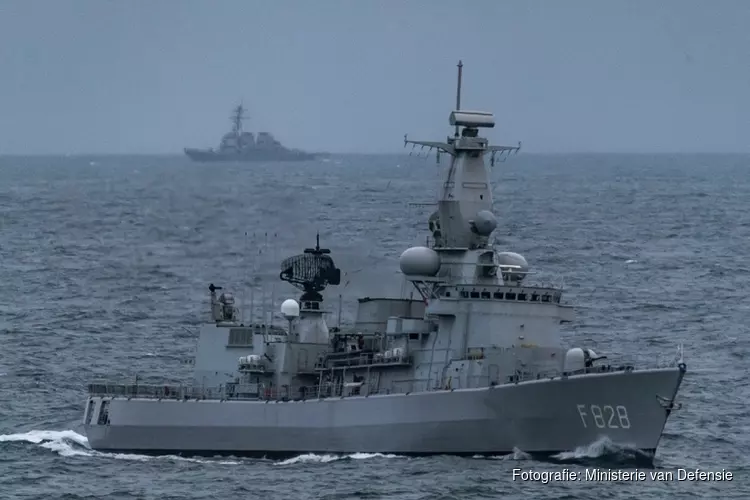
<instances>
[{"instance_id":1,"label":"gray hull of the foreground warship marked F828","mask_svg":"<svg viewBox=\"0 0 750 500\"><path fill-rule=\"evenodd\" d=\"M92 396L91 448L140 454L552 454L607 437L653 456L681 368L585 374L479 389L307 399ZM109 422L94 425L101 401Z\"/></svg>"}]
</instances>

